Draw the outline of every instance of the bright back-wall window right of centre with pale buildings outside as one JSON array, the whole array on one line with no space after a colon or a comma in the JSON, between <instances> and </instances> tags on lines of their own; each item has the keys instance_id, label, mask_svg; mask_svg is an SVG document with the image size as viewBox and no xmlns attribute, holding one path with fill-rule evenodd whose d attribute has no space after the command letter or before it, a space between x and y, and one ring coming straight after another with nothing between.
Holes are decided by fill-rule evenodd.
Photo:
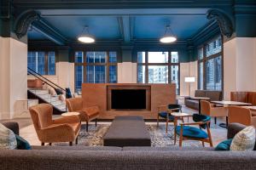
<instances>
[{"instance_id":1,"label":"bright back-wall window right of centre with pale buildings outside","mask_svg":"<svg viewBox=\"0 0 256 170\"><path fill-rule=\"evenodd\" d=\"M137 52L138 83L176 83L179 94L177 52Z\"/></svg>"}]
</instances>

